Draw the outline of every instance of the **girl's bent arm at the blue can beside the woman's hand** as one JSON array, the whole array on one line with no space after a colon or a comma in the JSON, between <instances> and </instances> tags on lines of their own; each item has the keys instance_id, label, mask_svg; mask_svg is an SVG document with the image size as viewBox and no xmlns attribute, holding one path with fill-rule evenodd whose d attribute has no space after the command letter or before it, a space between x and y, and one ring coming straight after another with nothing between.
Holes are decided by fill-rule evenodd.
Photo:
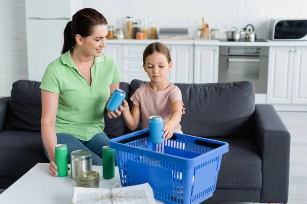
<instances>
[{"instance_id":1,"label":"girl's bent arm at the blue can beside the woman's hand","mask_svg":"<svg viewBox=\"0 0 307 204\"><path fill-rule=\"evenodd\" d=\"M125 101L125 103L127 102ZM131 113L130 113L129 106L127 103L127 105L124 106L124 109L122 112L123 112L125 124L127 125L128 129L130 131L134 131L138 127L139 122L140 122L140 117L141 117L140 107L134 104L131 110Z\"/></svg>"}]
</instances>

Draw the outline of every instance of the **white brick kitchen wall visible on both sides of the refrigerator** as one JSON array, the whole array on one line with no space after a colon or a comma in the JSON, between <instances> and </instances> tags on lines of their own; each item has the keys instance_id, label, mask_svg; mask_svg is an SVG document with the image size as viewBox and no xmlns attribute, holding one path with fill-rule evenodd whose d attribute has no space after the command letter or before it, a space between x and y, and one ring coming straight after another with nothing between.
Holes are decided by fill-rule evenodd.
<instances>
[{"instance_id":1,"label":"white brick kitchen wall visible on both sides of the refrigerator","mask_svg":"<svg viewBox=\"0 0 307 204\"><path fill-rule=\"evenodd\" d=\"M305 0L84 0L84 7L97 9L115 27L132 15L158 27L188 27L191 37L202 16L210 29L220 29L220 38L249 23L258 38L268 38L270 18L307 18ZM0 44L0 96L6 96L14 81L27 79L25 0L0 0Z\"/></svg>"}]
</instances>

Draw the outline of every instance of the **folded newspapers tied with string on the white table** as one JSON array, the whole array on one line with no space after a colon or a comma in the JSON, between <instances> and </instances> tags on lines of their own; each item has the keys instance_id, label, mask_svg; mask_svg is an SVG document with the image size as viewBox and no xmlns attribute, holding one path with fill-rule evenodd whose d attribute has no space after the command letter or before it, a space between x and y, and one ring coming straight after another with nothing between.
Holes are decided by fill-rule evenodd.
<instances>
[{"instance_id":1,"label":"folded newspapers tied with string on the white table","mask_svg":"<svg viewBox=\"0 0 307 204\"><path fill-rule=\"evenodd\" d=\"M156 204L157 202L148 183L113 189L74 187L73 204L90 203Z\"/></svg>"}]
</instances>

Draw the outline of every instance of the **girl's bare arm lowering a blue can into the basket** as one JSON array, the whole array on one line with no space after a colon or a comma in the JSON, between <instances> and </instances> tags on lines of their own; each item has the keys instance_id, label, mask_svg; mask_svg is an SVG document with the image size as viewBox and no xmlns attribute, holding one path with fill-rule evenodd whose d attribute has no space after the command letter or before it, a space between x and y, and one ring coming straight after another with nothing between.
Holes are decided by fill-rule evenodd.
<instances>
[{"instance_id":1,"label":"girl's bare arm lowering a blue can into the basket","mask_svg":"<svg viewBox=\"0 0 307 204\"><path fill-rule=\"evenodd\" d=\"M163 128L163 131L165 131L163 137L165 137L165 139L171 138L174 127L176 127L181 121L182 101L174 101L170 106L170 113L171 116L169 120L164 123Z\"/></svg>"}]
</instances>

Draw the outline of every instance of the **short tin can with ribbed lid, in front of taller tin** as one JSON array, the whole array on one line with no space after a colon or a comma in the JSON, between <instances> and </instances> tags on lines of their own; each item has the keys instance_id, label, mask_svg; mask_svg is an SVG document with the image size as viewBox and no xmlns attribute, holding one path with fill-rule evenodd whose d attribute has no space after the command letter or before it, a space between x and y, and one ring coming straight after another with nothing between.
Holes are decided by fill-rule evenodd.
<instances>
[{"instance_id":1,"label":"short tin can with ribbed lid, in front of taller tin","mask_svg":"<svg viewBox=\"0 0 307 204\"><path fill-rule=\"evenodd\" d=\"M77 186L99 188L99 173L97 171L83 171L77 174Z\"/></svg>"}]
</instances>

